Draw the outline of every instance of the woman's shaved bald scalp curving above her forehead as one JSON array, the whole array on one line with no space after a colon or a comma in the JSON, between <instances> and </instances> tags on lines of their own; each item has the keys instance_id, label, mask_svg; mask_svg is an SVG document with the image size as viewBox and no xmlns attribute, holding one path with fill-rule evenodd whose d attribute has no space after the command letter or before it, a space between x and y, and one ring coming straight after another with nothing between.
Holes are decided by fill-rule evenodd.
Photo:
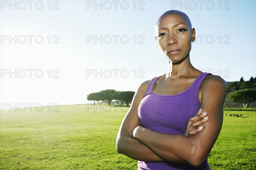
<instances>
[{"instance_id":1,"label":"woman's shaved bald scalp curving above her forehead","mask_svg":"<svg viewBox=\"0 0 256 170\"><path fill-rule=\"evenodd\" d=\"M158 28L159 28L159 25L160 25L160 21L163 20L163 18L166 18L167 16L168 17L178 17L180 20L183 20L184 24L188 27L189 30L192 29L192 24L191 24L191 22L189 20L189 17L184 12L177 11L177 10L170 10L170 11L167 11L167 12L163 13L158 18L157 23L155 25L155 31L156 32L158 31Z\"/></svg>"}]
</instances>

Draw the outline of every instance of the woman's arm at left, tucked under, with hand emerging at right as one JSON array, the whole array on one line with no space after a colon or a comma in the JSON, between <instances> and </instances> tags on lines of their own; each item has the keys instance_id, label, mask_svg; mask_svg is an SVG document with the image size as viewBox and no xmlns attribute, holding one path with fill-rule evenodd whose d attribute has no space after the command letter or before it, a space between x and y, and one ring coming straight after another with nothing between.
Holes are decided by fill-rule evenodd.
<instances>
[{"instance_id":1,"label":"woman's arm at left, tucked under, with hand emerging at right","mask_svg":"<svg viewBox=\"0 0 256 170\"><path fill-rule=\"evenodd\" d=\"M116 138L116 150L118 153L122 153L130 158L140 161L166 161L166 159L159 156L157 153L145 146L145 144L132 137L134 128L140 125L138 118L138 106L147 89L148 82L149 81L145 81L143 84L141 84L134 95L131 107L122 121ZM204 122L208 121L208 119L203 119L205 116L206 115L202 115L201 111L199 111L194 117L192 117L188 122L184 135L194 135L201 131L202 129L199 129L198 127ZM194 123L191 124L192 122Z\"/></svg>"}]
</instances>

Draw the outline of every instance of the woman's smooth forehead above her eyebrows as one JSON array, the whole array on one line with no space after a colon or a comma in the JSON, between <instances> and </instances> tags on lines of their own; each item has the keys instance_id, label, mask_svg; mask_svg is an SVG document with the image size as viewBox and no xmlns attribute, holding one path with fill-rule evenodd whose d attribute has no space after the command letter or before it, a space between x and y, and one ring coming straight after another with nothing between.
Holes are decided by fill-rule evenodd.
<instances>
[{"instance_id":1,"label":"woman's smooth forehead above her eyebrows","mask_svg":"<svg viewBox=\"0 0 256 170\"><path fill-rule=\"evenodd\" d=\"M172 14L166 14L164 16L161 16L156 23L155 29L158 31L161 27L168 27L175 25L177 23L183 23L186 26L188 26L188 20L185 16L182 14L172 13Z\"/></svg>"}]
</instances>

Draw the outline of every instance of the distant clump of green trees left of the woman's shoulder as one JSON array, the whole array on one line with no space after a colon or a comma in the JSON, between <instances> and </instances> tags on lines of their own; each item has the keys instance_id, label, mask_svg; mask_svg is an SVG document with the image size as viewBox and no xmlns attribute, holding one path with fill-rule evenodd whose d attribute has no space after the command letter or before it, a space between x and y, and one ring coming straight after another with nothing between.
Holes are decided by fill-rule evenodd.
<instances>
[{"instance_id":1,"label":"distant clump of green trees left of the woman's shoulder","mask_svg":"<svg viewBox=\"0 0 256 170\"><path fill-rule=\"evenodd\" d=\"M107 101L108 104L111 104L112 100L120 101L121 105L125 102L127 106L131 103L135 92L133 91L116 91L114 89L106 89L100 92L93 92L87 95L88 101L93 101L94 104L96 101Z\"/></svg>"}]
</instances>

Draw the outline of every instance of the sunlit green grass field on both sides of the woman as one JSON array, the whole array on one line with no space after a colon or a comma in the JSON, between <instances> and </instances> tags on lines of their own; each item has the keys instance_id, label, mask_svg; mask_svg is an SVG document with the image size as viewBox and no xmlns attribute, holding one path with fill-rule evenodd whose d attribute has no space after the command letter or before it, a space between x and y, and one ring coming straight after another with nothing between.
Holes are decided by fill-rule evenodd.
<instances>
[{"instance_id":1,"label":"sunlit green grass field on both sides of the woman","mask_svg":"<svg viewBox=\"0 0 256 170\"><path fill-rule=\"evenodd\" d=\"M49 112L0 113L1 170L135 170L137 161L118 154L116 135L126 107L64 105ZM102 109L102 110L100 110ZM212 170L255 170L256 113L225 111L208 158Z\"/></svg>"}]
</instances>

